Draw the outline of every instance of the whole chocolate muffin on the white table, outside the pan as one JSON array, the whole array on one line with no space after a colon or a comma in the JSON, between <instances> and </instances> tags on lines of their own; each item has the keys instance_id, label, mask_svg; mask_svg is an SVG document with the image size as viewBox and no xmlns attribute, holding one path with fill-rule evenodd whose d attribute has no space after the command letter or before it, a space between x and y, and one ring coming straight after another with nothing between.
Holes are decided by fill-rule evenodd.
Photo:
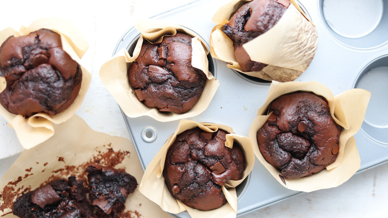
<instances>
[{"instance_id":1,"label":"whole chocolate muffin on the white table, outside the pan","mask_svg":"<svg viewBox=\"0 0 388 218\"><path fill-rule=\"evenodd\" d=\"M8 37L0 46L0 75L6 80L0 104L25 117L64 111L82 81L80 65L62 49L60 35L49 29Z\"/></svg>"}]
</instances>

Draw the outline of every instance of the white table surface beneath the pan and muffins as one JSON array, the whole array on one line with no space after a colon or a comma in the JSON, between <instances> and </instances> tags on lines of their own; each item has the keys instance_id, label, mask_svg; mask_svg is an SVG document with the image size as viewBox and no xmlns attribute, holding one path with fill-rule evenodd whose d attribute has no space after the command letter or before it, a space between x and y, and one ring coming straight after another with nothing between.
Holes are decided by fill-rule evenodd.
<instances>
[{"instance_id":1,"label":"white table surface beneath the pan and muffins","mask_svg":"<svg viewBox=\"0 0 388 218\"><path fill-rule=\"evenodd\" d=\"M60 1L63 5L49 0L1 1L0 30L6 27L19 29L42 17L73 21L89 42L89 50L81 64L93 75L77 114L94 130L130 138L118 105L98 77L99 68L111 57L120 36L136 19L151 17L191 1ZM0 178L18 156L11 155L21 151L13 129L0 117L0 157L5 157L0 159ZM388 166L385 164L355 175L337 188L303 193L241 218L388 217L387 184Z\"/></svg>"}]
</instances>

